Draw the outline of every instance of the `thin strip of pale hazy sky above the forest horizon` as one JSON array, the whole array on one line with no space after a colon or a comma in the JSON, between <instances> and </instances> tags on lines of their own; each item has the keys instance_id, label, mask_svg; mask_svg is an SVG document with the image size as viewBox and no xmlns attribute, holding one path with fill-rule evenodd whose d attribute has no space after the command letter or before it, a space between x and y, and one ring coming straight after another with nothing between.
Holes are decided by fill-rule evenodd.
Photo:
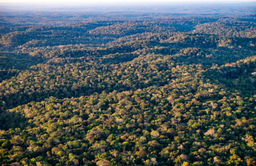
<instances>
[{"instance_id":1,"label":"thin strip of pale hazy sky above the forest horizon","mask_svg":"<svg viewBox=\"0 0 256 166\"><path fill-rule=\"evenodd\" d=\"M211 2L256 2L256 0L212 0ZM30 3L30 4L114 4L114 3L177 3L177 2L209 2L206 0L0 0L0 3Z\"/></svg>"}]
</instances>

